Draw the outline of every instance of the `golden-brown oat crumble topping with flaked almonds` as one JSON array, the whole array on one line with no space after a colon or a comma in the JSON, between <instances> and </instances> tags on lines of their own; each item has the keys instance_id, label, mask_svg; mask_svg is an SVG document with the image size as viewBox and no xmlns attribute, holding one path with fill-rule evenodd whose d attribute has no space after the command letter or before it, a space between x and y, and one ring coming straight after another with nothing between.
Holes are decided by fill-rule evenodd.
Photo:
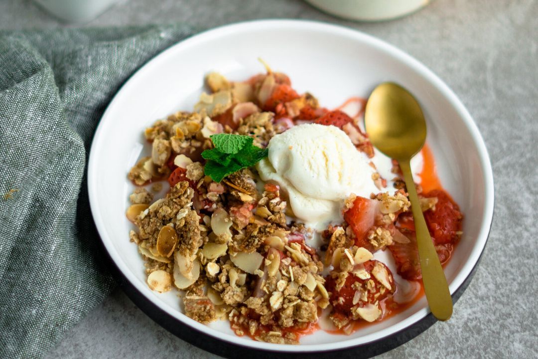
<instances>
[{"instance_id":1,"label":"golden-brown oat crumble topping with flaked almonds","mask_svg":"<svg viewBox=\"0 0 538 359\"><path fill-rule=\"evenodd\" d=\"M254 145L264 148L293 126L292 118L316 118L327 110L308 93L268 109L268 89L289 85L280 73L245 82L211 73L206 83L210 93L201 96L193 112L176 112L144 131L151 156L141 158L128 174L139 186L129 196L127 216L137 227L129 238L145 260L148 286L157 292L173 287L184 291L189 318L201 323L228 319L237 335L270 343L298 343L298 333L315 325L324 308L344 332L353 321L383 318L381 304L396 285L390 269L373 259L373 252L410 242L395 227L401 214L409 215L405 183L397 177L393 194L373 193L367 199L375 210L364 238L357 238L344 221L327 227L320 249L309 247L313 230L289 220L287 194L281 193L285 191L270 182L261 189L254 168L214 182L204 174L201 153L213 148L211 135L223 132L251 136ZM371 143L353 121L342 125L343 131L359 151L372 157ZM154 201L141 187L169 178L177 168L182 177L171 182L164 198ZM401 172L395 162L392 172ZM378 172L372 181L379 191L387 191ZM161 182L152 183L152 192L161 189ZM421 193L420 186L417 189ZM343 212L356 199L351 194ZM420 201L424 212L435 211L438 204L437 197L420 196ZM324 269L330 270L328 276L323 276Z\"/></svg>"}]
</instances>

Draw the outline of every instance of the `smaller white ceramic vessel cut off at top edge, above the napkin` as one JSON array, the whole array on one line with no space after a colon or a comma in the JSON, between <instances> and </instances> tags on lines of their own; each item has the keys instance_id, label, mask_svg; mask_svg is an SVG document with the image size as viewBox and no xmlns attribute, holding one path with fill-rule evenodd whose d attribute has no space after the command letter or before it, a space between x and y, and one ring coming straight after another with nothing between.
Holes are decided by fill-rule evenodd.
<instances>
[{"instance_id":1,"label":"smaller white ceramic vessel cut off at top edge, above the napkin","mask_svg":"<svg viewBox=\"0 0 538 359\"><path fill-rule=\"evenodd\" d=\"M34 0L52 15L73 23L97 17L118 0Z\"/></svg>"}]
</instances>

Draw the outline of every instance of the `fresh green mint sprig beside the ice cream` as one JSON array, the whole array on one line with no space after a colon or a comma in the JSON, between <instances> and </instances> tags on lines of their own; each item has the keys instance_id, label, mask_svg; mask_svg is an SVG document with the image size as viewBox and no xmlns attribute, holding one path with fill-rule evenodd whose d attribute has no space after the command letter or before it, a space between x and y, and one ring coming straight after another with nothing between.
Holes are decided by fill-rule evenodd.
<instances>
[{"instance_id":1,"label":"fresh green mint sprig beside the ice cream","mask_svg":"<svg viewBox=\"0 0 538 359\"><path fill-rule=\"evenodd\" d=\"M267 149L254 146L254 139L250 136L218 133L210 138L215 148L203 151L202 157L207 160L204 173L215 182L222 181L224 177L242 168L257 164L269 153Z\"/></svg>"}]
</instances>

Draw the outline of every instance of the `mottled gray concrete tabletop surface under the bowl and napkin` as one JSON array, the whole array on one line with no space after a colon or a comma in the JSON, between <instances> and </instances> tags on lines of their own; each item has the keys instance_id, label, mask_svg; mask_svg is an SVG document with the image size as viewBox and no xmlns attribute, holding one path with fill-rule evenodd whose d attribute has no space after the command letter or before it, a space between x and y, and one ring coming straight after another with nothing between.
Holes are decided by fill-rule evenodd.
<instances>
[{"instance_id":1,"label":"mottled gray concrete tabletop surface under the bowl and napkin","mask_svg":"<svg viewBox=\"0 0 538 359\"><path fill-rule=\"evenodd\" d=\"M380 358L538 357L536 220L538 2L436 0L413 15L352 23L300 0L130 0L83 26L189 22L202 27L256 18L344 24L407 51L448 83L485 138L495 216L482 263L452 319ZM61 24L30 0L0 2L0 29ZM68 332L52 358L213 358L147 318L121 290Z\"/></svg>"}]
</instances>

